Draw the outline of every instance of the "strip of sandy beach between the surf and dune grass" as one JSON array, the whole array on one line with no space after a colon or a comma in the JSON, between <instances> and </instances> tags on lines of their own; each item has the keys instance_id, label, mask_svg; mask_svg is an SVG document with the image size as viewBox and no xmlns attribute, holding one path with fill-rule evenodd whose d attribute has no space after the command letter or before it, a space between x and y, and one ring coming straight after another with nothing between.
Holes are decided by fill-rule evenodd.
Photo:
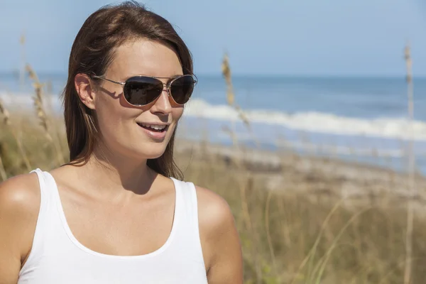
<instances>
[{"instance_id":1,"label":"strip of sandy beach between the surf and dune grass","mask_svg":"<svg viewBox=\"0 0 426 284\"><path fill-rule=\"evenodd\" d=\"M190 163L209 159L218 166L240 167L242 173L249 171L261 180L264 188L283 193L344 199L347 205L374 202L381 206L405 206L400 201L412 198L418 209L422 209L426 200L424 176L415 176L415 195L412 195L407 174L365 163L187 140L178 141L176 151L182 165L189 163L190 157Z\"/></svg>"}]
</instances>

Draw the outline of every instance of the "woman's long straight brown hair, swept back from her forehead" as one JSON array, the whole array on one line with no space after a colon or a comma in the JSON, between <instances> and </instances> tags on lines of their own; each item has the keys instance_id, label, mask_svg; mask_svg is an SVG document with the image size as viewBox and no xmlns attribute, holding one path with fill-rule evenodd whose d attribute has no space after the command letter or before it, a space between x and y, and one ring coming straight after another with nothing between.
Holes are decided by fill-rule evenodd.
<instances>
[{"instance_id":1,"label":"woman's long straight brown hair, swept back from her forehead","mask_svg":"<svg viewBox=\"0 0 426 284\"><path fill-rule=\"evenodd\" d=\"M70 164L87 163L99 139L95 112L81 102L75 89L75 75L104 74L114 58L114 48L138 38L168 45L178 55L183 73L192 74L190 50L165 18L136 1L104 6L92 13L72 45L67 84L62 93ZM163 155L147 164L161 175L182 179L173 160L174 141L175 132Z\"/></svg>"}]
</instances>

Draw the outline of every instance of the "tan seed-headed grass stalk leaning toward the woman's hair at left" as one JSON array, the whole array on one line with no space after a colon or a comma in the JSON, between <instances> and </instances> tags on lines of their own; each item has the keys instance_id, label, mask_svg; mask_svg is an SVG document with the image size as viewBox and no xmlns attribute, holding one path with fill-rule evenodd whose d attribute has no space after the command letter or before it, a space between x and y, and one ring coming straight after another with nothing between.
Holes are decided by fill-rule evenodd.
<instances>
[{"instance_id":1,"label":"tan seed-headed grass stalk leaning toward the woman's hair at left","mask_svg":"<svg viewBox=\"0 0 426 284\"><path fill-rule=\"evenodd\" d=\"M26 65L26 71L28 72L28 76L31 78L31 80L33 80L33 87L35 89L35 96L33 97L35 112L40 121L40 125L43 127L45 138L47 138L48 141L52 143L57 154L56 156L58 158L58 163L60 163L60 165L63 165L65 164L65 160L62 155L60 144L58 143L58 141L54 141L52 136L50 135L49 120L43 107L43 84L40 83L37 74L34 72L33 68L30 65Z\"/></svg>"}]
</instances>

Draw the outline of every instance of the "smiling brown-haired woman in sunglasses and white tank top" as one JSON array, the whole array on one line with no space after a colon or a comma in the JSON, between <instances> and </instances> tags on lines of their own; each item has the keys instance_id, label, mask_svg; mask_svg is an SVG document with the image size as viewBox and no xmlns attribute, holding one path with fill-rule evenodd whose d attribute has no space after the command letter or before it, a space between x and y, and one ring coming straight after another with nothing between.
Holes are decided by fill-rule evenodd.
<instances>
[{"instance_id":1,"label":"smiling brown-haired woman in sunglasses and white tank top","mask_svg":"<svg viewBox=\"0 0 426 284\"><path fill-rule=\"evenodd\" d=\"M0 283L242 283L228 205L173 162L196 79L170 23L134 2L99 9L68 72L71 162L0 185Z\"/></svg>"}]
</instances>

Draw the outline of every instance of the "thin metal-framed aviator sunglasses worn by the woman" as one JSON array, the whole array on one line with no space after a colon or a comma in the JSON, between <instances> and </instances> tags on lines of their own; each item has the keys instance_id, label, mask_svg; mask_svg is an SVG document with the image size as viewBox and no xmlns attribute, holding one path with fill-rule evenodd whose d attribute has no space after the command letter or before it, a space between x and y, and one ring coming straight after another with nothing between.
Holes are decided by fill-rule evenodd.
<instances>
[{"instance_id":1,"label":"thin metal-framed aviator sunglasses worn by the woman","mask_svg":"<svg viewBox=\"0 0 426 284\"><path fill-rule=\"evenodd\" d=\"M185 104L189 101L192 91L197 84L195 75L182 75L178 77L148 77L133 76L126 82L116 82L103 76L92 75L92 78L106 80L114 84L123 86L123 94L126 101L135 107L143 107L151 104L160 97L163 89L167 89L169 97L172 97L176 104ZM169 79L163 83L159 79Z\"/></svg>"}]
</instances>

